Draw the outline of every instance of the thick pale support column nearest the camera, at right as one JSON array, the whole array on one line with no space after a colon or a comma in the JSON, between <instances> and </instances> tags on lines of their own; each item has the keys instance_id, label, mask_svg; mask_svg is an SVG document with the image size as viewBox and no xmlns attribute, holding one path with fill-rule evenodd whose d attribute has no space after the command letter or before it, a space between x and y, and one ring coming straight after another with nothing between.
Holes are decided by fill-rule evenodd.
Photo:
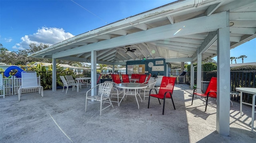
<instances>
[{"instance_id":1,"label":"thick pale support column nearest the camera, at right","mask_svg":"<svg viewBox=\"0 0 256 143\"><path fill-rule=\"evenodd\" d=\"M228 21L228 20L227 20ZM230 29L218 29L216 131L230 135Z\"/></svg>"}]
</instances>

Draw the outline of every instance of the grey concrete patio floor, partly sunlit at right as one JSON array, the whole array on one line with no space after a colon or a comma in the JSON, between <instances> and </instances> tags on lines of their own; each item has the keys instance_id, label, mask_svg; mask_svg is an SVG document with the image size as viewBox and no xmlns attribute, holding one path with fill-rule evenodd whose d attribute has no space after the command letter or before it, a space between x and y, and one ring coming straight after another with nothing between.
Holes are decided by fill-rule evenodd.
<instances>
[{"instance_id":1,"label":"grey concrete patio floor, partly sunlit at right","mask_svg":"<svg viewBox=\"0 0 256 143\"><path fill-rule=\"evenodd\" d=\"M166 100L165 114L156 98L139 102L128 96L120 106L113 103L102 111L99 102L90 102L85 112L85 93L44 90L0 98L0 143L255 143L251 130L251 111L243 105L230 106L230 137L216 132L216 101L195 98L191 106L192 89L175 84L173 98ZM141 93L141 96L143 94ZM160 100L161 101L161 100ZM161 101L162 103L162 101ZM256 121L254 121L255 131Z\"/></svg>"}]
</instances>

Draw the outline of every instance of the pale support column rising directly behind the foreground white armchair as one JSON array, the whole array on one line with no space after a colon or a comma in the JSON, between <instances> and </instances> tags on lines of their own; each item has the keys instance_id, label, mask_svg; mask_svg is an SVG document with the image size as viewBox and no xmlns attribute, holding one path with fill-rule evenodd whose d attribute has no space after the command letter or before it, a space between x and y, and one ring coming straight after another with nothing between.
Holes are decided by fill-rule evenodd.
<instances>
[{"instance_id":1,"label":"pale support column rising directly behind the foreground white armchair","mask_svg":"<svg viewBox=\"0 0 256 143\"><path fill-rule=\"evenodd\" d=\"M96 52L97 51L91 51L91 86L94 87L97 85L97 70L96 70ZM92 96L97 94L97 90L96 88L94 88L94 90L92 90Z\"/></svg>"}]
</instances>

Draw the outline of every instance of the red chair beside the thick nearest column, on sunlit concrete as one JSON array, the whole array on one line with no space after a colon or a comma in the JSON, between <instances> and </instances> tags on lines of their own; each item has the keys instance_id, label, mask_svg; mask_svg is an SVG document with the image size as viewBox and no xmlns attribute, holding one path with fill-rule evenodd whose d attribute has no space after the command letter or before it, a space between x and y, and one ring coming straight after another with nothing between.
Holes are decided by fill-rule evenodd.
<instances>
[{"instance_id":1,"label":"red chair beside the thick nearest column, on sunlit concrete","mask_svg":"<svg viewBox=\"0 0 256 143\"><path fill-rule=\"evenodd\" d=\"M200 93L196 92L196 89L200 89ZM208 104L208 98L217 98L217 78L216 77L212 77L210 80L210 83L205 91L205 93L202 93L203 90L201 88L196 88L193 91L193 97L192 97L192 104L193 105L193 99L194 99L194 95L198 95L198 96L202 96L204 98L206 98L206 104L205 104L205 112L206 112L206 108L207 108L207 104Z\"/></svg>"}]
</instances>

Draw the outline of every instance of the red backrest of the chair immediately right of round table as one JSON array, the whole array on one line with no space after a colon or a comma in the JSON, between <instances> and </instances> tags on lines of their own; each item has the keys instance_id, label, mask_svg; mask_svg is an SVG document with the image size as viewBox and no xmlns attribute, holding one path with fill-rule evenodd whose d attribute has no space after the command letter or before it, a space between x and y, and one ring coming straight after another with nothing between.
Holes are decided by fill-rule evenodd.
<instances>
[{"instance_id":1,"label":"red backrest of the chair immediately right of round table","mask_svg":"<svg viewBox=\"0 0 256 143\"><path fill-rule=\"evenodd\" d=\"M164 95L165 92L173 92L176 77L163 76L158 94ZM166 98L170 98L170 94L166 94Z\"/></svg>"}]
</instances>

